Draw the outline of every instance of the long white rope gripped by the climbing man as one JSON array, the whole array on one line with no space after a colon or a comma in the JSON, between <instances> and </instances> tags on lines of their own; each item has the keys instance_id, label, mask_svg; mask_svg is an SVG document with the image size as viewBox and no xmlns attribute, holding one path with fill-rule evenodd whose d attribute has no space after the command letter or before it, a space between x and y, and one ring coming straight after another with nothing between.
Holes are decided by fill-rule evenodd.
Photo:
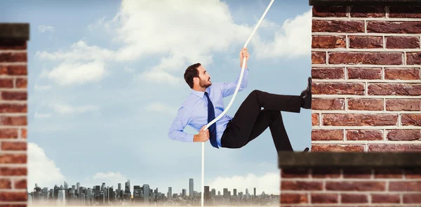
<instances>
[{"instance_id":1,"label":"long white rope gripped by the climbing man","mask_svg":"<svg viewBox=\"0 0 421 207\"><path fill-rule=\"evenodd\" d=\"M255 28L253 29L253 32L250 34L250 36L248 37L248 40L246 41L246 44L244 44L243 48L246 48L248 45L248 42L250 41L251 37L255 34L256 30L258 29L260 23L262 22L263 18L265 18L265 15L267 13L267 11L269 11L270 6L272 6L272 3L274 3L274 0L270 1L269 6L267 6L265 13L263 13L262 17L260 18L258 25L255 26ZM243 58L243 65L241 67L241 74L240 74L240 78L239 78L239 83L237 84L236 88L235 88L235 92L234 95L232 95L231 101L229 102L227 108L225 108L225 110L215 119L213 119L212 121L210 121L206 127L203 130L206 130L209 128L210 125L212 125L213 123L215 123L216 121L218 121L222 116L224 116L225 113L227 113L229 107L231 107L232 102L234 102L234 98L236 97L237 92L239 91L240 88L240 84L243 81L243 73L244 73L244 67L246 67L246 58ZM205 168L205 142L202 142L202 193L201 193L201 207L203 207L203 194L205 194L205 186L204 186L204 168Z\"/></svg>"}]
</instances>

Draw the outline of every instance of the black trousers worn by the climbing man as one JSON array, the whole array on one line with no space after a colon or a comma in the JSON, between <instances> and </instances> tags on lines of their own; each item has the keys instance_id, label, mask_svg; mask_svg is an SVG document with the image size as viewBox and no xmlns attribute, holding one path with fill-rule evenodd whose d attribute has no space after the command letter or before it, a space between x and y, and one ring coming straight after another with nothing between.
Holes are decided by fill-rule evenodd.
<instances>
[{"instance_id":1,"label":"black trousers worn by the climbing man","mask_svg":"<svg viewBox=\"0 0 421 207\"><path fill-rule=\"evenodd\" d=\"M302 101L299 95L252 91L227 123L221 138L222 147L241 148L269 127L276 151L293 151L283 126L281 111L299 113Z\"/></svg>"}]
</instances>

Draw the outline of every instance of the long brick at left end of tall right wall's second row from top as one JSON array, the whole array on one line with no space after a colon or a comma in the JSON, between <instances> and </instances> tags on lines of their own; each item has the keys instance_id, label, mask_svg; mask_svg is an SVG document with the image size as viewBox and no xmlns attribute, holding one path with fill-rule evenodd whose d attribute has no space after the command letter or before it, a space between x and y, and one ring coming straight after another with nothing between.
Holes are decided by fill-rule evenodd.
<instances>
[{"instance_id":1,"label":"long brick at left end of tall right wall's second row from top","mask_svg":"<svg viewBox=\"0 0 421 207\"><path fill-rule=\"evenodd\" d=\"M364 32L363 21L351 20L312 20L312 32Z\"/></svg>"}]
</instances>

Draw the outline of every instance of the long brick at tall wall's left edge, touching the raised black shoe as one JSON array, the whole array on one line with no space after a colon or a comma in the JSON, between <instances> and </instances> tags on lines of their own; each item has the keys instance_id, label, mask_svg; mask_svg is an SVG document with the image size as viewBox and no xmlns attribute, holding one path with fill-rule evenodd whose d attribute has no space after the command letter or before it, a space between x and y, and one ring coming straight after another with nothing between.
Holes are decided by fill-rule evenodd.
<instances>
[{"instance_id":1,"label":"long brick at tall wall's left edge, touching the raised black shoe","mask_svg":"<svg viewBox=\"0 0 421 207\"><path fill-rule=\"evenodd\" d=\"M364 95L365 85L359 83L313 83L313 94Z\"/></svg>"}]
</instances>

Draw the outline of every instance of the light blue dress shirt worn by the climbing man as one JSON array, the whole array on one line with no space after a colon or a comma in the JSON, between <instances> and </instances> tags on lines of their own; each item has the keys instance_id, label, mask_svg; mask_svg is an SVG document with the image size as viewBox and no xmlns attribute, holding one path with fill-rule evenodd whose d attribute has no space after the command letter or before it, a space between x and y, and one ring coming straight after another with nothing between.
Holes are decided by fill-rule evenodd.
<instances>
[{"instance_id":1,"label":"light blue dress shirt worn by the climbing man","mask_svg":"<svg viewBox=\"0 0 421 207\"><path fill-rule=\"evenodd\" d=\"M241 69L240 69L241 72ZM240 74L235 83L213 83L206 88L209 94L210 101L213 103L215 109L215 118L224 111L223 98L234 94L235 88L239 83ZM244 69L243 79L241 80L239 91L243 91L247 87L248 82L248 68ZM185 133L184 129L187 125L192 126L196 131L208 124L208 99L202 91L194 91L189 94L185 102L182 103L178 109L177 116L175 117L171 128L168 131L168 137L171 140L178 140L182 142L193 142L194 135ZM218 146L221 146L221 137L227 128L227 123L232 119L232 116L224 114L218 121L216 121L216 140Z\"/></svg>"}]
</instances>

